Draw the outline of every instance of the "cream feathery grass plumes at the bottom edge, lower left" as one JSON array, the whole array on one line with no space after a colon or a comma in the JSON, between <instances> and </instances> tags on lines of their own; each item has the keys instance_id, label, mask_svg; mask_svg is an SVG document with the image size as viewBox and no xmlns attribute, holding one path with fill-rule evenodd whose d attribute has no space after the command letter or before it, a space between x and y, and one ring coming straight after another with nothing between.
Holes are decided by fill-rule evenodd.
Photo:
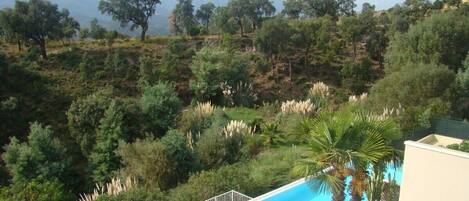
<instances>
[{"instance_id":1,"label":"cream feathery grass plumes at the bottom edge, lower left","mask_svg":"<svg viewBox=\"0 0 469 201\"><path fill-rule=\"evenodd\" d=\"M116 196L122 192L129 191L137 186L137 181L133 178L127 177L124 180L114 178L111 182L106 183L104 186L96 184L93 193L81 194L79 201L96 201L101 195Z\"/></svg>"}]
</instances>

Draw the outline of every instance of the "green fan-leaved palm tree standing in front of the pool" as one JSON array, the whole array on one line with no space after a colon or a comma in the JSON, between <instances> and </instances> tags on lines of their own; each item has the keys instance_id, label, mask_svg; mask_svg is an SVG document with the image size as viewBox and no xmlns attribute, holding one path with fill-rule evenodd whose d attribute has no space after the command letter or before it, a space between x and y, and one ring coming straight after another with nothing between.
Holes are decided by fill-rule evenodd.
<instances>
[{"instance_id":1,"label":"green fan-leaved palm tree standing in front of the pool","mask_svg":"<svg viewBox=\"0 0 469 201\"><path fill-rule=\"evenodd\" d=\"M361 200L368 165L391 158L390 141L400 136L388 120L349 111L319 114L304 121L300 132L309 135L310 152L294 170L305 175L313 188L332 192L334 201L344 200L347 176L353 177L353 200Z\"/></svg>"}]
</instances>

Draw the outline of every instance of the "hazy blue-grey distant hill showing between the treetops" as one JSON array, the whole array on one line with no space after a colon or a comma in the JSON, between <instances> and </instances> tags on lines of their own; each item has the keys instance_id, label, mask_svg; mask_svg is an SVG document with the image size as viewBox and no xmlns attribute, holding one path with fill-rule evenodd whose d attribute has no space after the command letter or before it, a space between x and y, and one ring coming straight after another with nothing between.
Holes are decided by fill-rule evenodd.
<instances>
[{"instance_id":1,"label":"hazy blue-grey distant hill showing between the treetops","mask_svg":"<svg viewBox=\"0 0 469 201\"><path fill-rule=\"evenodd\" d=\"M114 22L111 17L102 15L98 11L99 0L50 0L59 5L60 8L67 8L70 10L71 15L80 22L82 27L89 26L89 22L93 18L97 18L99 23L104 27L112 30L118 30L129 35L138 35L138 32L131 32L128 28L120 27L118 22ZM194 6L197 9L201 4L212 1L214 4L226 5L229 0L194 0ZM403 0L357 0L356 4L359 5L357 10L360 10L364 2L376 4L378 9L387 9L402 2ZM15 0L0 0L0 8L12 7ZM176 5L176 0L162 0L162 4L157 5L156 15L151 19L149 34L152 35L165 35L168 34L168 16ZM283 9L282 0L273 0L275 7L278 11Z\"/></svg>"}]
</instances>

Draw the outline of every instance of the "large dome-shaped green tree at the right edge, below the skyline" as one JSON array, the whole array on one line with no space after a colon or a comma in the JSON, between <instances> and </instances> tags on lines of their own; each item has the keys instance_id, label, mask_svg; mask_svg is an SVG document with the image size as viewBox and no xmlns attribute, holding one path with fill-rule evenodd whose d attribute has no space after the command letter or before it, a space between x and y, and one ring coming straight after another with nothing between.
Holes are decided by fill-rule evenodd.
<instances>
[{"instance_id":1,"label":"large dome-shaped green tree at the right edge, below the skyline","mask_svg":"<svg viewBox=\"0 0 469 201\"><path fill-rule=\"evenodd\" d=\"M469 18L455 13L434 14L392 38L385 59L386 71L407 62L447 65L456 72L469 51Z\"/></svg>"}]
</instances>

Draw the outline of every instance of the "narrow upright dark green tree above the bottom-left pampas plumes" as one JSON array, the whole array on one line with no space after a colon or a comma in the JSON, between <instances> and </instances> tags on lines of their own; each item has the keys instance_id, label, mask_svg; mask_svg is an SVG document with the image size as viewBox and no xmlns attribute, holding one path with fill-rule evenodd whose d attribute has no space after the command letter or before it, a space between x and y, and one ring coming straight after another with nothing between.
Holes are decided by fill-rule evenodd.
<instances>
[{"instance_id":1,"label":"narrow upright dark green tree above the bottom-left pampas plumes","mask_svg":"<svg viewBox=\"0 0 469 201\"><path fill-rule=\"evenodd\" d=\"M111 180L111 173L120 167L120 158L115 154L119 140L123 134L123 113L120 105L112 101L99 121L96 130L96 146L90 157L93 181L107 183Z\"/></svg>"}]
</instances>

